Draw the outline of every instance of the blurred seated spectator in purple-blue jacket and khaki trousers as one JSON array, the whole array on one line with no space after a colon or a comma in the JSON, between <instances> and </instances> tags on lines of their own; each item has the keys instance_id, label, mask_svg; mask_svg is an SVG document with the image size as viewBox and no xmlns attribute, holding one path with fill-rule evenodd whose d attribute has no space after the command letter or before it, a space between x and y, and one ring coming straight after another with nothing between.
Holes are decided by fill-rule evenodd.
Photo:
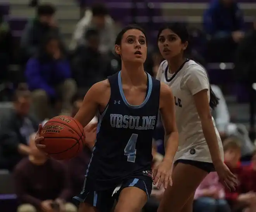
<instances>
[{"instance_id":1,"label":"blurred seated spectator in purple-blue jacket and khaki trousers","mask_svg":"<svg viewBox=\"0 0 256 212\"><path fill-rule=\"evenodd\" d=\"M35 114L40 121L49 118L51 103L61 98L63 115L71 114L71 99L76 83L71 79L69 62L63 55L59 38L46 36L38 55L30 58L25 70L29 89L32 91Z\"/></svg>"}]
</instances>

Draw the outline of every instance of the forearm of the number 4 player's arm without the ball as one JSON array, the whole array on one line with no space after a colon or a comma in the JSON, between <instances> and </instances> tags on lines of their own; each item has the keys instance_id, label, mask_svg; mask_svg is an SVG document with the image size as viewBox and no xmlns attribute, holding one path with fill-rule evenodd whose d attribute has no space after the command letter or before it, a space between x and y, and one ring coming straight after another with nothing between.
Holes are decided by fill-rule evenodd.
<instances>
[{"instance_id":1,"label":"forearm of the number 4 player's arm without the ball","mask_svg":"<svg viewBox=\"0 0 256 212\"><path fill-rule=\"evenodd\" d=\"M165 135L165 155L163 161L173 162L178 149L178 132L171 132Z\"/></svg>"}]
</instances>

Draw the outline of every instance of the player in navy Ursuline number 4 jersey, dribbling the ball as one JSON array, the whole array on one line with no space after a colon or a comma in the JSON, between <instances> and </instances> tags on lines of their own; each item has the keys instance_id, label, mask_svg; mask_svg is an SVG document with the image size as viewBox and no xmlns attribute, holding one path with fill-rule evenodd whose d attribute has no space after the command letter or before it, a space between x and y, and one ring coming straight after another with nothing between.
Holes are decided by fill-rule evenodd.
<instances>
[{"instance_id":1,"label":"player in navy Ursuline number 4 jersey, dribbling the ball","mask_svg":"<svg viewBox=\"0 0 256 212\"><path fill-rule=\"evenodd\" d=\"M100 112L97 141L86 171L79 212L140 212L152 190L152 134L158 111L166 133L166 155L155 170L156 185L172 184L178 146L170 88L144 71L147 39L140 27L125 27L116 38L122 69L94 84L74 119L86 126ZM39 129L39 132L41 127ZM43 139L37 136L39 141Z\"/></svg>"}]
</instances>

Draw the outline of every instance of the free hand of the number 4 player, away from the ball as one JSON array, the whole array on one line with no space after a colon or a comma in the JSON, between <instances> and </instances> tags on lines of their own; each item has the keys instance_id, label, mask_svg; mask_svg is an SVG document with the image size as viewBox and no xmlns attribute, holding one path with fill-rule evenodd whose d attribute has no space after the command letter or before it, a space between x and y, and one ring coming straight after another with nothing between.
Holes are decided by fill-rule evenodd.
<instances>
[{"instance_id":1,"label":"free hand of the number 4 player, away from the ball","mask_svg":"<svg viewBox=\"0 0 256 212\"><path fill-rule=\"evenodd\" d=\"M170 186L173 185L173 181L171 179L172 169L173 163L169 161L162 161L158 166L156 166L153 170L152 179L157 188L160 188L162 184L165 189L168 187L168 184Z\"/></svg>"}]
</instances>

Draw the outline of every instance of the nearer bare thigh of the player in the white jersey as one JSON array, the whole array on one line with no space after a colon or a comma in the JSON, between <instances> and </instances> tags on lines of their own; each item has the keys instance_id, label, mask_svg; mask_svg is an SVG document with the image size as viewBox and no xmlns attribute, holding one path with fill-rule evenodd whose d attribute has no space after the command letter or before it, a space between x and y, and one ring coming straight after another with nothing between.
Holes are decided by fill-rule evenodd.
<instances>
[{"instance_id":1,"label":"nearer bare thigh of the player in the white jersey","mask_svg":"<svg viewBox=\"0 0 256 212\"><path fill-rule=\"evenodd\" d=\"M166 212L172 208L172 212L180 212L207 174L191 164L178 163L173 170L173 186L165 190L157 211Z\"/></svg>"}]
</instances>

